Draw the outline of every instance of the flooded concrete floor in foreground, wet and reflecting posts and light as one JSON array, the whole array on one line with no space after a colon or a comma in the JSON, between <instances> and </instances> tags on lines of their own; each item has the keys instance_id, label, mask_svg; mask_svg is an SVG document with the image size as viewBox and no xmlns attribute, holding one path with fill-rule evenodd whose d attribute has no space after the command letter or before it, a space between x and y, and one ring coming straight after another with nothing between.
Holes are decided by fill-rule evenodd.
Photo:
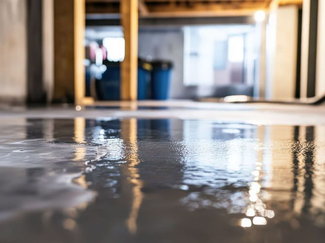
<instances>
[{"instance_id":1,"label":"flooded concrete floor in foreground, wet and reflecting posts and light","mask_svg":"<svg viewBox=\"0 0 325 243\"><path fill-rule=\"evenodd\" d=\"M323 124L29 114L0 116L0 243L324 242Z\"/></svg>"}]
</instances>

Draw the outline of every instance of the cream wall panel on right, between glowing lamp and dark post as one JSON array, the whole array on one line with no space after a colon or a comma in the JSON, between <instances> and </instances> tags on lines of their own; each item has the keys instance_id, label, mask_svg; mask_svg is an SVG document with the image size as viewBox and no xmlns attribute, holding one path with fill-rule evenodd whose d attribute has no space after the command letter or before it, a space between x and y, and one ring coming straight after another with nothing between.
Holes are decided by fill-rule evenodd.
<instances>
[{"instance_id":1,"label":"cream wall panel on right, between glowing lamp and dark post","mask_svg":"<svg viewBox=\"0 0 325 243\"><path fill-rule=\"evenodd\" d=\"M294 98L297 65L297 6L282 6L276 10L276 39L273 74L269 80L273 100Z\"/></svg>"}]
</instances>

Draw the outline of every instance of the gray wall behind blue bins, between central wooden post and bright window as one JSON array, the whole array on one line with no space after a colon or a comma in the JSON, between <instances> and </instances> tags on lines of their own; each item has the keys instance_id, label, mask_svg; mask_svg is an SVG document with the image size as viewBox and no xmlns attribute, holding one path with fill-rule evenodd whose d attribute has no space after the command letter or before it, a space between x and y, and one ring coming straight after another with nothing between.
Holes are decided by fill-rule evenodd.
<instances>
[{"instance_id":1,"label":"gray wall behind blue bins, between central wooden post and bright window","mask_svg":"<svg viewBox=\"0 0 325 243\"><path fill-rule=\"evenodd\" d=\"M181 29L140 29L139 57L172 61L174 70L171 84L172 99L195 97L195 88L183 85L184 35Z\"/></svg>"}]
</instances>

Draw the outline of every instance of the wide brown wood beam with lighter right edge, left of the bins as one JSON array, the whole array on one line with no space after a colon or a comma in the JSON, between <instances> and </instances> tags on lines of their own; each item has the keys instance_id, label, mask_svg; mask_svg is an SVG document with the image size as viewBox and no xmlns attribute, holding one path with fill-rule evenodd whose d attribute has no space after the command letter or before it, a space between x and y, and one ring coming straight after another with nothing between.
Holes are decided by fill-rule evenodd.
<instances>
[{"instance_id":1,"label":"wide brown wood beam with lighter right edge, left of the bins","mask_svg":"<svg viewBox=\"0 0 325 243\"><path fill-rule=\"evenodd\" d=\"M81 103L85 0L54 1L54 100Z\"/></svg>"}]
</instances>

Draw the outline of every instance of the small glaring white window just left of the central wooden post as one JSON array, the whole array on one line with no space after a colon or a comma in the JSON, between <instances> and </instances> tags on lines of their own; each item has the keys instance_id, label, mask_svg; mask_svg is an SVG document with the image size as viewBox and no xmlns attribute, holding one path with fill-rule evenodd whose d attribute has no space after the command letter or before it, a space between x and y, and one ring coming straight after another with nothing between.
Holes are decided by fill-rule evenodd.
<instances>
[{"instance_id":1,"label":"small glaring white window just left of the central wooden post","mask_svg":"<svg viewBox=\"0 0 325 243\"><path fill-rule=\"evenodd\" d=\"M107 49L108 61L123 61L125 55L125 41L123 37L106 37L103 46Z\"/></svg>"}]
</instances>

